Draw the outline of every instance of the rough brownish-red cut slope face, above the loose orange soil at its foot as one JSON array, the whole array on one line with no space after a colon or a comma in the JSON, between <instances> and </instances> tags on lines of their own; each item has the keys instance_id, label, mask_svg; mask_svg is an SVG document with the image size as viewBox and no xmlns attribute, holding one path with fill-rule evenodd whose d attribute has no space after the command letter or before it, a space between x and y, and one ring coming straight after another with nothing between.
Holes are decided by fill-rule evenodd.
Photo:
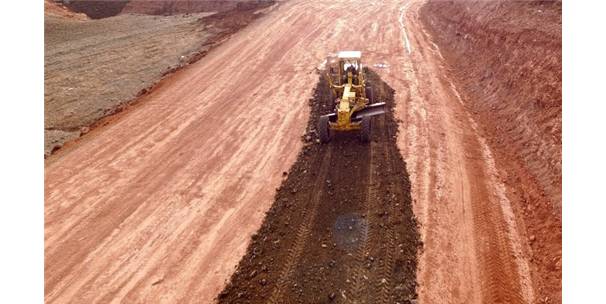
<instances>
[{"instance_id":1,"label":"rough brownish-red cut slope face, above the loose orange soil at its foot","mask_svg":"<svg viewBox=\"0 0 606 304\"><path fill-rule=\"evenodd\" d=\"M428 3L435 34L493 145L561 204L561 2Z\"/></svg>"}]
</instances>

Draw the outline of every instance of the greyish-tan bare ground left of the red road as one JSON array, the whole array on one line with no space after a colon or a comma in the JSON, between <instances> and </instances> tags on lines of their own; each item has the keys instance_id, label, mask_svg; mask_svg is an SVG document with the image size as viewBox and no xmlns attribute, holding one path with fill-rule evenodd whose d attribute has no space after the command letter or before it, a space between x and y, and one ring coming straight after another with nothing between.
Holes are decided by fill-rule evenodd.
<instances>
[{"instance_id":1,"label":"greyish-tan bare ground left of the red road","mask_svg":"<svg viewBox=\"0 0 606 304\"><path fill-rule=\"evenodd\" d=\"M47 12L45 156L123 110L166 74L202 58L261 16L261 8L100 20Z\"/></svg>"}]
</instances>

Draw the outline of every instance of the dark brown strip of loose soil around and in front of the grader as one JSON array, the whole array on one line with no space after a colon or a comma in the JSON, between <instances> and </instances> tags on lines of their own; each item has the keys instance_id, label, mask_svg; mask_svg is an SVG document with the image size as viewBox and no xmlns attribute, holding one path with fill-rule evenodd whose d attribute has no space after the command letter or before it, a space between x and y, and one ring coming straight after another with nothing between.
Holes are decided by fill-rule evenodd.
<instances>
[{"instance_id":1,"label":"dark brown strip of loose soil around and in front of the grader","mask_svg":"<svg viewBox=\"0 0 606 304\"><path fill-rule=\"evenodd\" d=\"M420 248L406 164L396 146L394 91L369 71L372 141L356 133L317 144L318 117L332 108L320 78L305 147L277 189L219 303L412 303Z\"/></svg>"}]
</instances>

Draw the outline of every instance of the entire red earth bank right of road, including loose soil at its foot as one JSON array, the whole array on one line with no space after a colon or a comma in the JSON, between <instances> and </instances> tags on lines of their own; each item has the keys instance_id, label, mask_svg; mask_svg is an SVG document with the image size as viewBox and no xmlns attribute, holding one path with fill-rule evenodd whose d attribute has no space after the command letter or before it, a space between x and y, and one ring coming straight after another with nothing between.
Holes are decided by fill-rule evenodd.
<instances>
[{"instance_id":1,"label":"entire red earth bank right of road, including loose soil at its foot","mask_svg":"<svg viewBox=\"0 0 606 304\"><path fill-rule=\"evenodd\" d=\"M561 302L562 4L430 1L420 11L526 231L539 303Z\"/></svg>"}]
</instances>

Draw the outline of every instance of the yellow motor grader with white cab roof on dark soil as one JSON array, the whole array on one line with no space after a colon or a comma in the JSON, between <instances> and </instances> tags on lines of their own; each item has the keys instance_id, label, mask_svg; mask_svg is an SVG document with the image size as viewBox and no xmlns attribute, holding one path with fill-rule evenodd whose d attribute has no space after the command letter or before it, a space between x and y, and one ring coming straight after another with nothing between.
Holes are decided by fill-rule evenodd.
<instances>
[{"instance_id":1,"label":"yellow motor grader with white cab roof on dark soil","mask_svg":"<svg viewBox=\"0 0 606 304\"><path fill-rule=\"evenodd\" d=\"M320 142L330 141L333 133L359 131L360 141L370 141L371 118L385 114L385 103L374 103L367 83L360 51L341 51L326 59L325 78L332 91L334 111L320 116Z\"/></svg>"}]
</instances>

